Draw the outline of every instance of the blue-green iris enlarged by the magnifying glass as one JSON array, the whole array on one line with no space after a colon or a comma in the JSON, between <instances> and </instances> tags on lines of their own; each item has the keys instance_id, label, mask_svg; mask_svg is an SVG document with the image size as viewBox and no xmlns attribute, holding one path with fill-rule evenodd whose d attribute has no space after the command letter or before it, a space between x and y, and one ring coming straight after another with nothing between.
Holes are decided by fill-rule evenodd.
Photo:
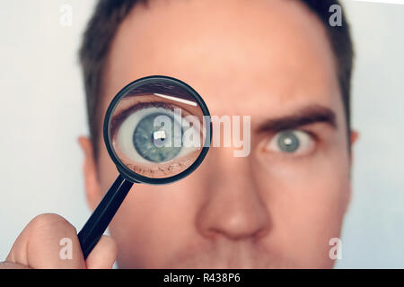
<instances>
[{"instance_id":1,"label":"blue-green iris enlarged by the magnifying glass","mask_svg":"<svg viewBox=\"0 0 404 287\"><path fill-rule=\"evenodd\" d=\"M171 131L168 130L170 126L154 126L154 118L158 116L170 118ZM182 149L181 146L174 146L175 125L177 128L180 126L173 117L164 113L154 113L142 118L133 133L133 144L136 152L147 161L163 162L174 159ZM181 131L181 128L179 130ZM159 137L156 138L156 135ZM156 141L160 141L161 144L156 144ZM165 146L166 144L164 143L167 143L168 141L171 145Z\"/></svg>"}]
</instances>

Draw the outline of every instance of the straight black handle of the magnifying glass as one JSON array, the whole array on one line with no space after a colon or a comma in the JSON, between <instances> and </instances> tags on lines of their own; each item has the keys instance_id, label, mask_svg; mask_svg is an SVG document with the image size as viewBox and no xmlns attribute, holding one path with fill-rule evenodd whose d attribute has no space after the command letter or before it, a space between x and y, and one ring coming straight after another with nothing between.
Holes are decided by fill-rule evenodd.
<instances>
[{"instance_id":1,"label":"straight black handle of the magnifying glass","mask_svg":"<svg viewBox=\"0 0 404 287\"><path fill-rule=\"evenodd\" d=\"M83 229L77 235L84 260L101 239L102 234L107 229L132 186L133 182L127 181L127 179L119 175L92 213L92 216L85 222Z\"/></svg>"}]
</instances>

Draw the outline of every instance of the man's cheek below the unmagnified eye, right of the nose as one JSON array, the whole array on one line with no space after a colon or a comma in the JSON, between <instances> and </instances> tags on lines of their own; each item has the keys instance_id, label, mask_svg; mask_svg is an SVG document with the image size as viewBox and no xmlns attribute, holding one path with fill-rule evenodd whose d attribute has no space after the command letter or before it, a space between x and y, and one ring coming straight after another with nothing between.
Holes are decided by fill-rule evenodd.
<instances>
[{"instance_id":1,"label":"man's cheek below the unmagnified eye, right of the nose","mask_svg":"<svg viewBox=\"0 0 404 287\"><path fill-rule=\"evenodd\" d=\"M332 265L329 239L339 237L350 194L346 158L329 151L304 160L259 160L256 165L277 245L303 265Z\"/></svg>"}]
</instances>

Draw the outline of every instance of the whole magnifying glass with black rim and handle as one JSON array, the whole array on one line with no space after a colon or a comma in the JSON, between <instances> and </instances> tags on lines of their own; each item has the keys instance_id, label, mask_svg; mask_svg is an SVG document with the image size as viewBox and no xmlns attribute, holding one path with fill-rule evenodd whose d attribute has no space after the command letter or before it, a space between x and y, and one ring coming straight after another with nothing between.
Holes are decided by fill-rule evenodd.
<instances>
[{"instance_id":1,"label":"whole magnifying glass with black rim and handle","mask_svg":"<svg viewBox=\"0 0 404 287\"><path fill-rule=\"evenodd\" d=\"M188 176L205 159L211 133L209 110L187 83L154 75L119 91L103 126L119 176L78 233L84 259L134 183L169 184Z\"/></svg>"}]
</instances>

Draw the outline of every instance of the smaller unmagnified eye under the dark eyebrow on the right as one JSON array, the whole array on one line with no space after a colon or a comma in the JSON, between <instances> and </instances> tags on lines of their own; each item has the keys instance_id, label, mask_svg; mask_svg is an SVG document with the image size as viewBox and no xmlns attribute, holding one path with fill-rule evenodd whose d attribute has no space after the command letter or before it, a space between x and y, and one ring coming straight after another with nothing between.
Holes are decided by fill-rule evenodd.
<instances>
[{"instance_id":1,"label":"smaller unmagnified eye under the dark eyebrow on the right","mask_svg":"<svg viewBox=\"0 0 404 287\"><path fill-rule=\"evenodd\" d=\"M296 155L309 154L314 150L312 135L301 130L278 132L266 146L268 152L285 152Z\"/></svg>"}]
</instances>

